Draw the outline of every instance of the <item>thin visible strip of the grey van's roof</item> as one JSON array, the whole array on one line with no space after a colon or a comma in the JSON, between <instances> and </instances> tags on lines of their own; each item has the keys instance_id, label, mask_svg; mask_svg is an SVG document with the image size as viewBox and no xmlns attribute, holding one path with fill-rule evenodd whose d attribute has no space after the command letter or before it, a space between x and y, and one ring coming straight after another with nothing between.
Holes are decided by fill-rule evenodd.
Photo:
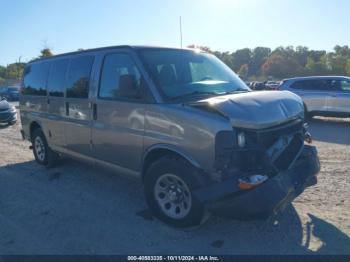
<instances>
[{"instance_id":1,"label":"thin visible strip of the grey van's roof","mask_svg":"<svg viewBox=\"0 0 350 262\"><path fill-rule=\"evenodd\" d=\"M92 48L92 49L84 49L84 50L78 50L74 52L68 52L68 53L62 53L58 55L48 56L44 58L36 58L28 64L38 61L44 61L49 60L57 57L64 57L68 55L77 55L81 53L89 53L89 52L96 52L96 51L102 51L102 50L108 50L108 49L116 49L116 48L129 48L129 49L174 49L174 50L194 50L193 48L178 48L178 47L166 47L166 46L147 46L147 45L117 45L117 46L106 46L106 47L98 47L98 48Z\"/></svg>"}]
</instances>

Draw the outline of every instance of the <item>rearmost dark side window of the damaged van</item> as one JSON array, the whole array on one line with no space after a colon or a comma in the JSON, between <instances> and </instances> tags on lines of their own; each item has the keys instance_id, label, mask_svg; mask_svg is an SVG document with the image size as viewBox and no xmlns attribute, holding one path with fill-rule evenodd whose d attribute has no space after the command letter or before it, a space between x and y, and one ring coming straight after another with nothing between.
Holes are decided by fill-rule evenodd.
<instances>
[{"instance_id":1,"label":"rearmost dark side window of the damaged van","mask_svg":"<svg viewBox=\"0 0 350 262\"><path fill-rule=\"evenodd\" d=\"M49 73L49 62L28 65L24 70L24 95L46 96L46 81Z\"/></svg>"}]
</instances>

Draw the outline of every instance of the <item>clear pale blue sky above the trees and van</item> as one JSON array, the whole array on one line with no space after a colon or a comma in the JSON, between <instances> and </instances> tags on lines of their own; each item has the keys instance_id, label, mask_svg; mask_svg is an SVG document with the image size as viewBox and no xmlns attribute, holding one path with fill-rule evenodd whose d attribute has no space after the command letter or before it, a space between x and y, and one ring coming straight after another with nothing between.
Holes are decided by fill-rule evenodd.
<instances>
[{"instance_id":1,"label":"clear pale blue sky above the trees and van","mask_svg":"<svg viewBox=\"0 0 350 262\"><path fill-rule=\"evenodd\" d=\"M0 0L0 65L110 45L350 45L350 0Z\"/></svg>"}]
</instances>

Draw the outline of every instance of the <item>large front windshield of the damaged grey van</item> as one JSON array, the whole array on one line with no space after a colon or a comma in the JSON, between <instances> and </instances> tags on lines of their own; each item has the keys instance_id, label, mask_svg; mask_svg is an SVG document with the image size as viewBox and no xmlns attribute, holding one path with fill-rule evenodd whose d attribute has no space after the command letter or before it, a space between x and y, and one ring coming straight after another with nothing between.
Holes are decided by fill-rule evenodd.
<instances>
[{"instance_id":1,"label":"large front windshield of the damaged grey van","mask_svg":"<svg viewBox=\"0 0 350 262\"><path fill-rule=\"evenodd\" d=\"M141 49L140 56L166 101L250 91L214 55L193 50Z\"/></svg>"}]
</instances>

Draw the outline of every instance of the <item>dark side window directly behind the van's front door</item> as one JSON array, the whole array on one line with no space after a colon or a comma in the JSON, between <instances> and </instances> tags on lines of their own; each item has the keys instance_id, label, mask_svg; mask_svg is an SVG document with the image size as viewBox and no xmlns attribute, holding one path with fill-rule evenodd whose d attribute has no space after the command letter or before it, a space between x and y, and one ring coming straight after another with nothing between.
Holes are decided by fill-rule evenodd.
<instances>
[{"instance_id":1,"label":"dark side window directly behind the van's front door","mask_svg":"<svg viewBox=\"0 0 350 262\"><path fill-rule=\"evenodd\" d=\"M68 70L67 93L70 98L87 98L93 56L80 56L71 59Z\"/></svg>"}]
</instances>

